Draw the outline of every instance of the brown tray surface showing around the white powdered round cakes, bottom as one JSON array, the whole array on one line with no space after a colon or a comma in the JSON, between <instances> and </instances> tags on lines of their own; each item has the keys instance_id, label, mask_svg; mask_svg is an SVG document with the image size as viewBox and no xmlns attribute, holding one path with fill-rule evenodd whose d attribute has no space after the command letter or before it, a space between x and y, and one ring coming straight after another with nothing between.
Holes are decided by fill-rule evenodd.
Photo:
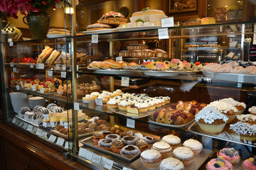
<instances>
[{"instance_id":1,"label":"brown tray surface showing around the white powdered round cakes, bottom","mask_svg":"<svg viewBox=\"0 0 256 170\"><path fill-rule=\"evenodd\" d=\"M200 154L198 154L198 156L193 158L193 162L191 162L190 165L185 166L185 170L196 170L199 169L200 166L202 166L202 164L204 162L206 162L206 160L208 159L208 157L210 157L210 154L212 154L213 151L209 150L209 149L203 149ZM132 162L131 166L134 169L145 169L146 168L143 166L140 158L137 159L136 161ZM159 170L159 167L156 168L155 170Z\"/></svg>"}]
</instances>

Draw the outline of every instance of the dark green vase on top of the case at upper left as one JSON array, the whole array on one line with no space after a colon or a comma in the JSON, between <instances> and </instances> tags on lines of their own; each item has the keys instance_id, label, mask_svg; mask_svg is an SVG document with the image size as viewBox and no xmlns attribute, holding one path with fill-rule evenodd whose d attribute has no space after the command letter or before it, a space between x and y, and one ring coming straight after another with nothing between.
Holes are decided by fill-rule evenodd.
<instances>
[{"instance_id":1,"label":"dark green vase on top of the case at upper left","mask_svg":"<svg viewBox=\"0 0 256 170\"><path fill-rule=\"evenodd\" d=\"M25 18L28 23L24 21ZM50 16L45 11L28 13L23 17L23 23L28 25L34 40L45 39L50 26Z\"/></svg>"}]
</instances>

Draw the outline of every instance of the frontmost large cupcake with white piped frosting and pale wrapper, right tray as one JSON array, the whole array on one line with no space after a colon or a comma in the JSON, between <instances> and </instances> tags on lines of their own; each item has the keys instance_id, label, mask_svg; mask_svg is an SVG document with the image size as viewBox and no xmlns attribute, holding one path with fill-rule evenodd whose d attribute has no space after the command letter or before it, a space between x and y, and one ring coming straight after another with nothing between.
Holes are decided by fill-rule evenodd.
<instances>
[{"instance_id":1,"label":"frontmost large cupcake with white piped frosting and pale wrapper, right tray","mask_svg":"<svg viewBox=\"0 0 256 170\"><path fill-rule=\"evenodd\" d=\"M195 120L201 130L210 133L222 132L228 117L220 111L217 111L214 106L203 108L195 115Z\"/></svg>"}]
</instances>

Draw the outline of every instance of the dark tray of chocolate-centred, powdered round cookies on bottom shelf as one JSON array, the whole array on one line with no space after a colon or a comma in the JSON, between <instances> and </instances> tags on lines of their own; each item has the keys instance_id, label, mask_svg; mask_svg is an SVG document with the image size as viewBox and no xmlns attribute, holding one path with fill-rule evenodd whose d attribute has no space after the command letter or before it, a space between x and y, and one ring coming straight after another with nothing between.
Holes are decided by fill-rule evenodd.
<instances>
[{"instance_id":1,"label":"dark tray of chocolate-centred, powdered round cookies on bottom shelf","mask_svg":"<svg viewBox=\"0 0 256 170\"><path fill-rule=\"evenodd\" d=\"M106 135L107 132L109 132L109 135ZM95 132L92 137L87 137L80 142L85 147L110 154L126 162L133 162L139 158L139 154L142 151L150 149L155 142L160 141L153 137L143 136L139 132L127 131L126 134L130 136L124 134L121 137L120 135L110 133L110 131Z\"/></svg>"}]
</instances>

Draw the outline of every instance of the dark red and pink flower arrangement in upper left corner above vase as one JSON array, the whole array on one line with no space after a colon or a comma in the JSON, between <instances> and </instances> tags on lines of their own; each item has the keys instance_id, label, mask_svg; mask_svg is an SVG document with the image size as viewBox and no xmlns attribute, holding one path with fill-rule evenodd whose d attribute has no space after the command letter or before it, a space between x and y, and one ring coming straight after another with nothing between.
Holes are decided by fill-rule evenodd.
<instances>
[{"instance_id":1,"label":"dark red and pink flower arrangement in upper left corner above vase","mask_svg":"<svg viewBox=\"0 0 256 170\"><path fill-rule=\"evenodd\" d=\"M1 0L0 14L18 18L18 11L26 16L26 11L32 13L46 11L49 7L56 8L55 4L59 1L63 0Z\"/></svg>"}]
</instances>

